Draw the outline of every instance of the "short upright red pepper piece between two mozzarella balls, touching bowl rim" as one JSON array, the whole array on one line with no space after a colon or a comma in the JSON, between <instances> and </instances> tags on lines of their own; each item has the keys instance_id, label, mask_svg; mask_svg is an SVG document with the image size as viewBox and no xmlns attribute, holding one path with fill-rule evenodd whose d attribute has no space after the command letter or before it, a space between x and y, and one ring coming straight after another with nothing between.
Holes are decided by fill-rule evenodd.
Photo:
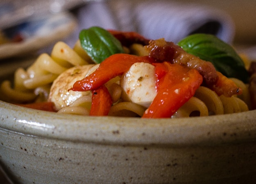
<instances>
[{"instance_id":1,"label":"short upright red pepper piece between two mozzarella balls, touching bowl rim","mask_svg":"<svg viewBox=\"0 0 256 184\"><path fill-rule=\"evenodd\" d=\"M112 98L105 85L92 91L90 116L106 116L112 105Z\"/></svg>"}]
</instances>

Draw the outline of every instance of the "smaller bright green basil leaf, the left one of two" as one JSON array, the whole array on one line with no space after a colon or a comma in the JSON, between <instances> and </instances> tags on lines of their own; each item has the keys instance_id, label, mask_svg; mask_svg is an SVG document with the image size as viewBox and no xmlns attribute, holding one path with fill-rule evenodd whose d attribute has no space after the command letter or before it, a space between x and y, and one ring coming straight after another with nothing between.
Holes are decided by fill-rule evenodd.
<instances>
[{"instance_id":1,"label":"smaller bright green basil leaf, the left one of two","mask_svg":"<svg viewBox=\"0 0 256 184\"><path fill-rule=\"evenodd\" d=\"M79 33L79 40L95 63L101 63L113 54L124 53L120 41L101 27L83 29Z\"/></svg>"}]
</instances>

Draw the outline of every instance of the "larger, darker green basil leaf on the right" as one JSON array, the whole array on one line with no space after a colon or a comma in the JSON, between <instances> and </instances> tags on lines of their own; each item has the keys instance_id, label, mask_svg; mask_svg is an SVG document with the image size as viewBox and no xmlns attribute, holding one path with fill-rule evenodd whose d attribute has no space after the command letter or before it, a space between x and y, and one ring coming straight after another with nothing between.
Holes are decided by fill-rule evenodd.
<instances>
[{"instance_id":1,"label":"larger, darker green basil leaf on the right","mask_svg":"<svg viewBox=\"0 0 256 184\"><path fill-rule=\"evenodd\" d=\"M215 69L227 77L248 83L249 74L240 56L229 44L210 34L193 34L179 41L186 52L213 63Z\"/></svg>"}]
</instances>

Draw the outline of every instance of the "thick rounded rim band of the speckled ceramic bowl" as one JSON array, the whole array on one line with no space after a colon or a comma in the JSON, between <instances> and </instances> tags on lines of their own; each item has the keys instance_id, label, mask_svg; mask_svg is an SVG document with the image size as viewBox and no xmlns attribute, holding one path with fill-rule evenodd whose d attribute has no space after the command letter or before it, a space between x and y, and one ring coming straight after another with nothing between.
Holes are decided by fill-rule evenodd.
<instances>
[{"instance_id":1,"label":"thick rounded rim band of the speckled ceramic bowl","mask_svg":"<svg viewBox=\"0 0 256 184\"><path fill-rule=\"evenodd\" d=\"M213 146L256 141L256 110L211 117L142 119L58 114L0 101L0 117L0 132L75 142Z\"/></svg>"}]
</instances>

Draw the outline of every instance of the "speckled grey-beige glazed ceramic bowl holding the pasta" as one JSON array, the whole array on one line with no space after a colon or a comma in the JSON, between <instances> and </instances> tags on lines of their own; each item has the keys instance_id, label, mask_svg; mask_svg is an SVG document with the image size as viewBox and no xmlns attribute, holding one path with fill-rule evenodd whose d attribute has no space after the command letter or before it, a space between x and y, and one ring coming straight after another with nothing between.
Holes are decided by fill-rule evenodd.
<instances>
[{"instance_id":1,"label":"speckled grey-beige glazed ceramic bowl holding the pasta","mask_svg":"<svg viewBox=\"0 0 256 184\"><path fill-rule=\"evenodd\" d=\"M0 164L24 184L255 183L256 111L84 117L0 101Z\"/></svg>"}]
</instances>

